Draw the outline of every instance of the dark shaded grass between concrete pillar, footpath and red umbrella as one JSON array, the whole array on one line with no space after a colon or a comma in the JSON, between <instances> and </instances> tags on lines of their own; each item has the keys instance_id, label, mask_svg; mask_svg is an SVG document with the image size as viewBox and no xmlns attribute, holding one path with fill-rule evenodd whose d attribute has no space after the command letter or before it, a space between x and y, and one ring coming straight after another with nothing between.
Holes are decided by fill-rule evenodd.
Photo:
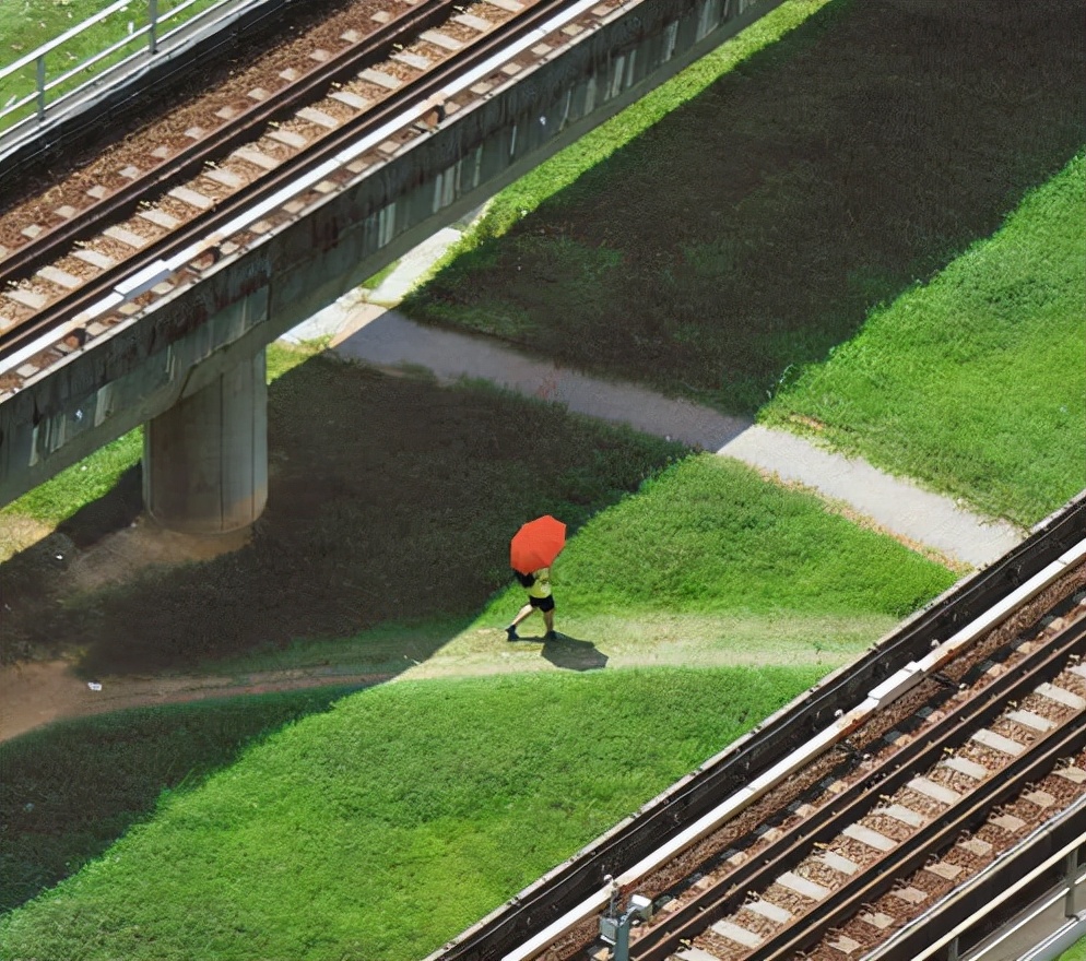
<instances>
[{"instance_id":1,"label":"dark shaded grass between concrete pillar, footpath and red umbrella","mask_svg":"<svg viewBox=\"0 0 1086 961\"><path fill-rule=\"evenodd\" d=\"M526 518L553 513L576 531L684 450L542 402L316 357L270 388L268 508L246 547L93 589L78 554L23 551L0 569L4 648L63 639L88 672L108 674L390 620L462 624L508 580L509 537ZM138 489L117 491L137 494L135 511Z\"/></svg>"}]
</instances>

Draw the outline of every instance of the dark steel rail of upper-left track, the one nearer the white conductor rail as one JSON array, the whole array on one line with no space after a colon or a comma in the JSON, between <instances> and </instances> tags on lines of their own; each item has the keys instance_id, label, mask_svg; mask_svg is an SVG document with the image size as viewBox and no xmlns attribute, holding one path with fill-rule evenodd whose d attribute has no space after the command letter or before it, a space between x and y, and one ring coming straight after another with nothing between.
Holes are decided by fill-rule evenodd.
<instances>
[{"instance_id":1,"label":"dark steel rail of upper-left track, the one nearer the white conductor rail","mask_svg":"<svg viewBox=\"0 0 1086 961\"><path fill-rule=\"evenodd\" d=\"M524 37L531 37L539 31L541 23L546 23L556 11L582 5L582 0L539 0L515 19L484 34L458 56L437 64L413 81L405 82L371 110L330 131L309 150L284 162L250 187L220 201L216 206L198 214L174 233L152 241L134 257L103 271L94 280L46 306L27 322L10 331L0 342L0 360L33 344L64 321L80 316L81 311L95 308L118 285L132 283L133 277L139 277L156 262L192 247L197 238L208 238L216 230L228 227L246 211L259 207L261 203L284 191L292 181L335 163L339 155L347 152L349 147L366 134L380 130L411 109L426 104L435 95L442 94L451 81L470 74L504 48ZM414 119L416 118L405 119L403 127L410 126Z\"/></svg>"}]
</instances>

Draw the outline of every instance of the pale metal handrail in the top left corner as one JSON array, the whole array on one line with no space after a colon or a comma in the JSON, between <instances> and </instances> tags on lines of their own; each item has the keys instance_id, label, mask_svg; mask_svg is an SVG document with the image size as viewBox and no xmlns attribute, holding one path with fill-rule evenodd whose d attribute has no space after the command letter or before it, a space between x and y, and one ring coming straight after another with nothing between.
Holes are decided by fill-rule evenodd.
<instances>
[{"instance_id":1,"label":"pale metal handrail in the top left corner","mask_svg":"<svg viewBox=\"0 0 1086 961\"><path fill-rule=\"evenodd\" d=\"M10 100L3 107L0 107L0 130L2 130L4 127L5 117L9 117L10 115L14 114L15 111L22 109L23 107L27 106L28 104L35 100L37 102L37 110L35 111L35 115L37 122L40 126L42 123L45 122L46 112L50 107L57 107L60 104L64 103L66 100L78 96L80 93L84 92L88 86L98 82L99 78L95 78L94 80L88 80L84 83L81 83L79 86L64 92L61 96L57 97L51 103L48 103L46 97L46 94L48 92L54 91L58 86L67 83L69 80L71 80L73 76L78 75L79 73L83 73L90 70L95 64L102 62L106 58L116 54L118 50L121 50L123 47L132 44L133 40L138 40L141 37L144 36L147 37L146 49L134 51L129 57L123 58L116 66L126 63L135 57L143 57L147 55L155 56L156 54L160 52L158 48L163 44L163 41L168 40L170 37L173 37L181 28L181 26L185 25L191 26L193 23L199 23L199 21L204 17L210 19L216 13L216 11L221 7L231 2L231 0L219 0L219 2L212 4L206 10L200 11L199 13L188 17L184 24L178 24L172 31L168 31L165 34L161 32L161 27L163 24L167 23L170 20L176 20L186 10L188 10L190 7L192 7L198 2L200 2L200 0L182 0L181 3L178 3L176 7L174 7L173 9L170 9L169 11L167 11L166 13L160 16L158 0L146 0L145 24L141 25L137 29L133 29L131 33L127 34L121 39L114 41L105 49L98 50L96 54L81 61L75 67L72 67L69 70L64 71L60 75L55 76L51 80L47 80L46 66L45 66L45 58L47 55L59 49L66 43L71 40L73 37L76 37L80 34L85 33L87 29L90 29L93 26L97 26L99 23L113 16L114 14L128 10L133 4L133 0L117 0L116 3L111 3L105 10L99 10L96 14L94 14L94 16L91 16L87 20L83 21L82 23L78 24L76 26L73 26L70 29L64 31L64 33L62 33L60 36L55 37L54 39L49 40L46 44L43 44L40 47L38 47L35 50L32 50L29 54L20 57L14 63L4 67L2 70L0 70L0 83L2 83L7 78L12 76L13 74L23 70L24 68L31 66L32 63L37 64L37 75L35 80L35 88L32 93L26 94L25 96L20 97L19 99ZM259 0L250 0L250 2L256 3L259 2ZM243 5L249 5L249 4L243 4ZM29 118L24 118L24 120L22 121L16 121L16 123L13 126L17 126L21 122L25 122L27 119Z\"/></svg>"}]
</instances>

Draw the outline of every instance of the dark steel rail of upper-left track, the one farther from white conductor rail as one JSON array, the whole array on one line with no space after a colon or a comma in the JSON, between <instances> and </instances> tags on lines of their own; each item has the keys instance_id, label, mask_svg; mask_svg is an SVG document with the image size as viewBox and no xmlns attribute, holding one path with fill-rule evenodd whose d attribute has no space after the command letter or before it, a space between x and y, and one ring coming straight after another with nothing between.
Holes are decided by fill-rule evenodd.
<instances>
[{"instance_id":1,"label":"dark steel rail of upper-left track, the one farther from white conductor rail","mask_svg":"<svg viewBox=\"0 0 1086 961\"><path fill-rule=\"evenodd\" d=\"M322 88L370 62L387 59L393 45L405 36L422 33L442 23L451 15L457 0L422 0L396 20L383 24L358 44L341 50L292 84L272 94L268 99L253 103L229 122L208 133L206 137L182 147L144 176L120 187L98 203L80 211L70 220L56 225L0 260L0 288L9 283L28 277L35 270L62 257L68 247L85 239L101 227L104 221L123 220L139 206L152 190L168 190L175 183L200 174L208 162L229 153L237 146L257 139L258 130L279 115L296 109L300 104L316 99ZM126 261L130 262L130 261Z\"/></svg>"}]
</instances>

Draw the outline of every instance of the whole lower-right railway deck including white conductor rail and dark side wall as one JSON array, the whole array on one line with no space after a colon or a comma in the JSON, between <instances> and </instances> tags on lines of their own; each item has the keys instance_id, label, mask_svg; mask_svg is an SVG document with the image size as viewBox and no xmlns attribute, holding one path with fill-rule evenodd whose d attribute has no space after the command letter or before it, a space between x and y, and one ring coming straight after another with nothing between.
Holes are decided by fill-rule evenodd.
<instances>
[{"instance_id":1,"label":"whole lower-right railway deck including white conductor rail and dark side wall","mask_svg":"<svg viewBox=\"0 0 1086 961\"><path fill-rule=\"evenodd\" d=\"M1066 517L1074 546L980 576L1010 582L968 617L947 601L874 687L850 680L872 667L858 664L819 707L776 719L767 737L790 751L746 776L751 746L725 752L711 807L676 785L432 958L948 957L1053 838L1086 844L1084 508ZM955 897L975 889L990 893Z\"/></svg>"}]
</instances>

